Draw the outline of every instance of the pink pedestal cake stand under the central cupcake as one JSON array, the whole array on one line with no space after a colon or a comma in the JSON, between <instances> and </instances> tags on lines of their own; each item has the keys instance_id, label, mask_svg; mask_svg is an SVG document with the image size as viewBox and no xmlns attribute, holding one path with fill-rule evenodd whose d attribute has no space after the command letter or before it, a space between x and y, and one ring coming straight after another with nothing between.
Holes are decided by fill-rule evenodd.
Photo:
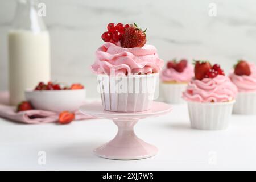
<instances>
[{"instance_id":1,"label":"pink pedestal cake stand under the central cupcake","mask_svg":"<svg viewBox=\"0 0 256 182\"><path fill-rule=\"evenodd\" d=\"M117 135L110 142L94 150L102 158L117 160L135 160L154 156L158 148L139 139L134 133L134 125L142 118L158 117L167 114L172 106L153 102L151 110L137 113L118 113L103 109L101 102L93 102L80 107L80 112L98 118L112 119L118 127Z\"/></svg>"}]
</instances>

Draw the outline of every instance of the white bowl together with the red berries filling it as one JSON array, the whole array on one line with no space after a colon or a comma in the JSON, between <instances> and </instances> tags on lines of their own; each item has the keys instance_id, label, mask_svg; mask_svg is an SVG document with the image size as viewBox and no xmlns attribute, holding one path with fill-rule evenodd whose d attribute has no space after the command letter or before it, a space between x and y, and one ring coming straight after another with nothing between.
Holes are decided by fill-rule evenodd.
<instances>
[{"instance_id":1,"label":"white bowl together with the red berries filling it","mask_svg":"<svg viewBox=\"0 0 256 182\"><path fill-rule=\"evenodd\" d=\"M77 111L85 101L85 88L81 84L62 86L55 82L39 82L34 89L27 89L25 97L34 109L60 113L63 110Z\"/></svg>"}]
</instances>

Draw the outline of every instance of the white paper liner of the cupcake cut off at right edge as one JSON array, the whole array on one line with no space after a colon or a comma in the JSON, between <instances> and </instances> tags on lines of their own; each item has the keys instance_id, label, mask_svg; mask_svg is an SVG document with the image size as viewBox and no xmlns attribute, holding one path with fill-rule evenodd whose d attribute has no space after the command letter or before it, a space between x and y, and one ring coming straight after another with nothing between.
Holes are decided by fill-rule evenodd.
<instances>
[{"instance_id":1,"label":"white paper liner of the cupcake cut off at right edge","mask_svg":"<svg viewBox=\"0 0 256 182\"><path fill-rule=\"evenodd\" d=\"M234 114L256 114L256 92L240 92L237 94L233 108Z\"/></svg>"}]
</instances>

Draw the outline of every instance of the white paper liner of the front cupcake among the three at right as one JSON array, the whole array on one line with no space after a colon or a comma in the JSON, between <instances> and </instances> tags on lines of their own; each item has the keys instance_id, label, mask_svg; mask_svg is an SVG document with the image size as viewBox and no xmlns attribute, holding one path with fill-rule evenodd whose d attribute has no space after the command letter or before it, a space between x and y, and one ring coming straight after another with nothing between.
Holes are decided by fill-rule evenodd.
<instances>
[{"instance_id":1,"label":"white paper liner of the front cupcake among the three at right","mask_svg":"<svg viewBox=\"0 0 256 182\"><path fill-rule=\"evenodd\" d=\"M188 102L191 127L201 130L226 129L229 125L234 102Z\"/></svg>"}]
</instances>

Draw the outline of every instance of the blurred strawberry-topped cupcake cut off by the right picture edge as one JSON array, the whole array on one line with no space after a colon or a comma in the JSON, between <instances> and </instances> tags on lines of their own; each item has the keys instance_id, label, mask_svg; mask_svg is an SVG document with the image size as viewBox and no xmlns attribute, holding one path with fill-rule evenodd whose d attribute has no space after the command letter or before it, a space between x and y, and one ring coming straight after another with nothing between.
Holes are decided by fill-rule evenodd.
<instances>
[{"instance_id":1,"label":"blurred strawberry-topped cupcake cut off by the right picture edge","mask_svg":"<svg viewBox=\"0 0 256 182\"><path fill-rule=\"evenodd\" d=\"M240 60L229 75L237 86L238 94L233 113L256 114L256 67L254 63Z\"/></svg>"}]
</instances>

